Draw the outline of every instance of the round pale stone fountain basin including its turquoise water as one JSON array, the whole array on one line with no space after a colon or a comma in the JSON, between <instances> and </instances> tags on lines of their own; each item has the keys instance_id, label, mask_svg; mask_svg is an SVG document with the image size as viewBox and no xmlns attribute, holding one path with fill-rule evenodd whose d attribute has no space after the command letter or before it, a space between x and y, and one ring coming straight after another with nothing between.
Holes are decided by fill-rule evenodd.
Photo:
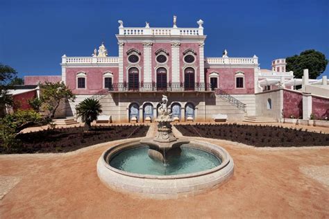
<instances>
[{"instance_id":1,"label":"round pale stone fountain basin including its turquoise water","mask_svg":"<svg viewBox=\"0 0 329 219\"><path fill-rule=\"evenodd\" d=\"M190 141L180 157L167 164L148 157L139 141L112 146L97 162L97 174L111 189L149 198L178 198L203 193L225 182L234 172L233 159L223 148Z\"/></svg>"}]
</instances>

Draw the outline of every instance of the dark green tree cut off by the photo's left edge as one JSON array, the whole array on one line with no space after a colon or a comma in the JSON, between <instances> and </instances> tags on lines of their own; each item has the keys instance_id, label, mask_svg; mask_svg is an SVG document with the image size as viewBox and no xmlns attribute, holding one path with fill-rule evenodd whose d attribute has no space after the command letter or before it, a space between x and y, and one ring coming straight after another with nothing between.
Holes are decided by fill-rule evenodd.
<instances>
[{"instance_id":1,"label":"dark green tree cut off by the photo's left edge","mask_svg":"<svg viewBox=\"0 0 329 219\"><path fill-rule=\"evenodd\" d=\"M0 118L5 115L6 105L12 105L12 97L8 94L8 82L17 74L15 69L0 63Z\"/></svg>"}]
</instances>

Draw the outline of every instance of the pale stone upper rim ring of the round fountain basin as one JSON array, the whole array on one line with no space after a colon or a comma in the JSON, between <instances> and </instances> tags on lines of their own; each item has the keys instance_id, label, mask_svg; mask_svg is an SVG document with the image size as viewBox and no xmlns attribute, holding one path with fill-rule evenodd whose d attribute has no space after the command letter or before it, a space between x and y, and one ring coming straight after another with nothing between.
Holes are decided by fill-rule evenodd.
<instances>
[{"instance_id":1,"label":"pale stone upper rim ring of the round fountain basin","mask_svg":"<svg viewBox=\"0 0 329 219\"><path fill-rule=\"evenodd\" d=\"M187 138L180 138L180 139L183 140L183 139L187 139ZM203 141L198 141L198 140L194 140L194 139L189 142L189 144L194 144L194 143L196 143L197 145L199 145L203 148L194 147L193 145L189 146L189 147L211 153L212 155L216 156L217 159L221 159L221 164L219 166L215 166L214 168L211 168L209 170L203 170L203 171L199 171L199 172L195 172L195 173L178 174L178 175L149 175L149 174L130 173L130 172L127 172L124 170L119 170L117 168L110 166L110 164L109 164L110 162L107 162L107 161L110 161L111 157L114 157L118 152L124 152L125 150L142 147L142 143L140 143L140 140L133 140L133 141L129 141L126 143L117 143L114 146L111 146L110 148L108 148L108 150L104 151L102 153L100 159L101 159L101 163L103 164L103 166L105 166L109 170L112 170L115 173L119 173L121 175L126 175L128 177L136 177L136 178L142 178L142 179L143 178L144 179L185 179L185 178L198 177L198 176L202 176L202 175L209 175L210 173L214 173L214 172L217 172L217 171L225 168L226 166L228 166L230 161L233 161L233 159L230 157L228 152L221 146L217 146L212 143L205 144L205 142L203 142ZM204 148L212 149L212 147L213 147L213 151L204 149Z\"/></svg>"}]
</instances>

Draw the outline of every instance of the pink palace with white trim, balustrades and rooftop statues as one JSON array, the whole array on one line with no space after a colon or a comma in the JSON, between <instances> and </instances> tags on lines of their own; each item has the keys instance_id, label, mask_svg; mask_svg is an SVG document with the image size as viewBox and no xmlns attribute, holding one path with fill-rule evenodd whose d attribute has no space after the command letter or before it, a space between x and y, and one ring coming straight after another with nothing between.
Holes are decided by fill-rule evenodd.
<instances>
[{"instance_id":1,"label":"pink palace with white trim, balustrades and rooftop statues","mask_svg":"<svg viewBox=\"0 0 329 219\"><path fill-rule=\"evenodd\" d=\"M119 21L119 56L108 56L102 43L88 57L63 55L61 76L26 76L25 84L62 80L77 98L58 116L76 116L78 103L98 98L112 122L153 122L162 95L168 96L176 121L328 116L329 95L317 90L326 89L326 78L309 80L305 69L303 80L294 79L282 58L267 70L260 69L256 55L234 58L225 49L219 57L207 57L203 21L196 21L196 28L178 27L176 17L173 23L130 28Z\"/></svg>"}]
</instances>

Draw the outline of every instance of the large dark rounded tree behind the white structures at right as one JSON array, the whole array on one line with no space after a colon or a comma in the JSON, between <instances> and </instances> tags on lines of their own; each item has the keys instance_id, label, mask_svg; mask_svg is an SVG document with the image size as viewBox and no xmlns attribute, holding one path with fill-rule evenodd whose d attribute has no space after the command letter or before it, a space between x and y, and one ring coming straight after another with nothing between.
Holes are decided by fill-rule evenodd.
<instances>
[{"instance_id":1,"label":"large dark rounded tree behind the white structures at right","mask_svg":"<svg viewBox=\"0 0 329 219\"><path fill-rule=\"evenodd\" d=\"M316 79L326 71L328 60L326 55L314 49L301 52L300 55L294 55L286 58L287 71L294 71L296 78L303 76L303 69L308 69L310 78Z\"/></svg>"}]
</instances>

